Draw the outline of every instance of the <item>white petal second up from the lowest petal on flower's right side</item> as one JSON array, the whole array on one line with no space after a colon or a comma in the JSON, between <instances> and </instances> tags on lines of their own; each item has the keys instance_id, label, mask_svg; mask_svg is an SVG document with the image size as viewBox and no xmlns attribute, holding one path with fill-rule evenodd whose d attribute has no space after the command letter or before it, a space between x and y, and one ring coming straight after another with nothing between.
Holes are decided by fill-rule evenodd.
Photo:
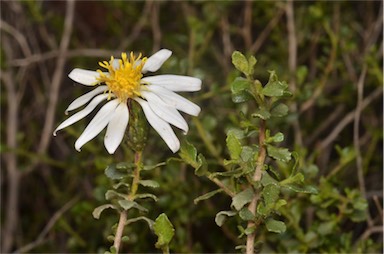
<instances>
[{"instance_id":1,"label":"white petal second up from the lowest petal on flower's right side","mask_svg":"<svg viewBox=\"0 0 384 254\"><path fill-rule=\"evenodd\" d=\"M164 121L180 128L186 134L188 132L188 124L181 116L179 111L167 105L160 97L150 91L141 91L141 95L147 99L149 106Z\"/></svg>"}]
</instances>

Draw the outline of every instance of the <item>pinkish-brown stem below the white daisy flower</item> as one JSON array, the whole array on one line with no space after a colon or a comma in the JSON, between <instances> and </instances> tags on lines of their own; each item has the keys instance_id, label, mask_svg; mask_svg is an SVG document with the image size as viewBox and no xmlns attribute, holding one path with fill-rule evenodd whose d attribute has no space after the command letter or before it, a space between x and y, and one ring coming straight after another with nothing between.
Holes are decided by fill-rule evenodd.
<instances>
[{"instance_id":1,"label":"pinkish-brown stem below the white daisy flower","mask_svg":"<svg viewBox=\"0 0 384 254\"><path fill-rule=\"evenodd\" d=\"M135 165L136 165L136 167L135 167L135 170L133 172L131 191L128 195L128 200L130 200L130 201L135 200L135 195L136 195L137 189L139 187L140 171L142 169L141 154L142 154L141 151L135 153ZM124 227L125 227L126 222L127 222L127 211L123 210L120 213L119 224L117 225L115 239L113 242L113 246L115 247L117 254L119 253L119 250L120 250L121 239L123 237L123 231L124 231Z\"/></svg>"}]
</instances>

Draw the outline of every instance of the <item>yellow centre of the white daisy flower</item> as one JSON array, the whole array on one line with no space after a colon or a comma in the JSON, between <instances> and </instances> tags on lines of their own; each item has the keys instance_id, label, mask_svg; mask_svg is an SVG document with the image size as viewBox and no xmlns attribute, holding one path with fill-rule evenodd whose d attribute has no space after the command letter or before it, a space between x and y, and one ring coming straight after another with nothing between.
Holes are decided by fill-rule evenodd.
<instances>
[{"instance_id":1,"label":"yellow centre of the white daisy flower","mask_svg":"<svg viewBox=\"0 0 384 254\"><path fill-rule=\"evenodd\" d=\"M105 83L108 86L108 92L121 101L140 96L140 81L143 77L141 70L146 61L146 57L141 59L141 53L135 57L131 52L129 58L126 53L122 53L121 59L118 61L119 66L116 66L114 58L111 57L109 62L99 62L99 65L107 69L109 73L105 74L101 70L97 70L100 74L97 80Z\"/></svg>"}]
</instances>

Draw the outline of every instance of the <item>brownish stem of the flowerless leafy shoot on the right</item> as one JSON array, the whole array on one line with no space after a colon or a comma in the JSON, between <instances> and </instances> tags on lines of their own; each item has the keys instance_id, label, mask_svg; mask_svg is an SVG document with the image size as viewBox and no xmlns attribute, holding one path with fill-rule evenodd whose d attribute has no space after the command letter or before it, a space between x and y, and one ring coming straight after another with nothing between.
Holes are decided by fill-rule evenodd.
<instances>
[{"instance_id":1,"label":"brownish stem of the flowerless leafy shoot on the right","mask_svg":"<svg viewBox=\"0 0 384 254\"><path fill-rule=\"evenodd\" d=\"M265 157L267 155L267 151L265 149L265 120L261 120L260 122L260 132L259 132L259 155L257 157L257 166L255 169L255 174L253 175L253 181L258 182L261 180L261 173L264 167ZM251 211L252 214L256 214L256 206L257 201L259 199L259 194L256 193L253 197L251 203L248 206L248 210ZM250 229L252 227L256 227L256 223L254 221L249 221L247 228ZM256 229L253 230L252 234L247 236L247 246L246 246L246 254L253 254L255 249L255 237L256 237Z\"/></svg>"}]
</instances>

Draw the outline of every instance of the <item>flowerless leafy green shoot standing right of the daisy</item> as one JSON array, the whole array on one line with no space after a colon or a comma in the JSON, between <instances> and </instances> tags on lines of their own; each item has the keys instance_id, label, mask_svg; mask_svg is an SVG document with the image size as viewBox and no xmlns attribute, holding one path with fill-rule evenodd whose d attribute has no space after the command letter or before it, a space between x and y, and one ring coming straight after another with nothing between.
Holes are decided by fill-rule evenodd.
<instances>
[{"instance_id":1,"label":"flowerless leafy green shoot standing right of the daisy","mask_svg":"<svg viewBox=\"0 0 384 254\"><path fill-rule=\"evenodd\" d=\"M207 177L219 187L196 198L195 203L218 193L230 196L230 210L218 212L215 222L221 227L228 217L238 216L239 237L245 238L245 242L236 249L247 254L260 249L258 233L265 229L278 234L285 232L280 213L287 204L283 192L317 193L298 172L298 154L278 145L284 140L283 133L268 128L270 121L288 114L288 106L283 102L292 95L288 84L270 71L267 84L262 85L254 78L256 62L253 56L246 58L238 51L232 54L232 63L243 75L231 84L232 100L248 103L248 108L255 110L247 115L239 112L239 126L228 131L230 158L222 163L223 170L209 171L203 154L198 154L190 143L183 144L180 150L180 157L195 168L196 175ZM288 169L289 174L282 174L278 168Z\"/></svg>"}]
</instances>

